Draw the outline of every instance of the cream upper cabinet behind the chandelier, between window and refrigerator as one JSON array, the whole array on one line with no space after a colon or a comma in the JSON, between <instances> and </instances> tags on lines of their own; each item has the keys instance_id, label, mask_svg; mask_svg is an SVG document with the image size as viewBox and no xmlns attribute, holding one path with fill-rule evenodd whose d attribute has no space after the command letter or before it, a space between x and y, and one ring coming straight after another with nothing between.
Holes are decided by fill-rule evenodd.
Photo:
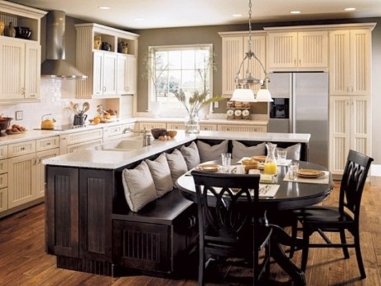
<instances>
[{"instance_id":1,"label":"cream upper cabinet behind the chandelier, between window and refrigerator","mask_svg":"<svg viewBox=\"0 0 381 286\"><path fill-rule=\"evenodd\" d=\"M248 32L221 32L219 35L222 38L222 94L224 96L232 96L235 90L235 78L245 53L249 50ZM266 60L266 36L264 32L252 33L252 52L265 65ZM239 77L243 78L246 73L248 61L245 61L239 70ZM254 58L250 72L254 78L263 79L265 74L263 68ZM256 85L253 89L256 94L260 85Z\"/></svg>"}]
</instances>

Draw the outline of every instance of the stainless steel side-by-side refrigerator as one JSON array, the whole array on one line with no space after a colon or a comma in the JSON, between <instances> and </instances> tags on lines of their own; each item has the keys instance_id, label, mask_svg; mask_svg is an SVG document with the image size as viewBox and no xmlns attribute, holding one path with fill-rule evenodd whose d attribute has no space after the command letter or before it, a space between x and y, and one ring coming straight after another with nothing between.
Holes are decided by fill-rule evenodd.
<instances>
[{"instance_id":1,"label":"stainless steel side-by-side refrigerator","mask_svg":"<svg viewBox=\"0 0 381 286\"><path fill-rule=\"evenodd\" d=\"M328 75L326 72L270 74L272 98L288 98L288 118L270 118L269 132L310 133L309 162L328 167Z\"/></svg>"}]
</instances>

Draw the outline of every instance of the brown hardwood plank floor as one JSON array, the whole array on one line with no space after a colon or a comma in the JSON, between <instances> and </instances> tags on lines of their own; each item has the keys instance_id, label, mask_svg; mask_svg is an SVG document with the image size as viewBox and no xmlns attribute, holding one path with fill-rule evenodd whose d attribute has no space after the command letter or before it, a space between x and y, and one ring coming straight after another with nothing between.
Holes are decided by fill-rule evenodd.
<instances>
[{"instance_id":1,"label":"brown hardwood plank floor","mask_svg":"<svg viewBox=\"0 0 381 286\"><path fill-rule=\"evenodd\" d=\"M337 203L338 184L324 204ZM367 278L359 280L356 256L343 259L341 250L311 250L307 265L307 285L381 286L381 179L371 178L364 191L361 211L361 244ZM55 257L45 254L43 204L0 220L0 285L197 285L195 276L171 280L149 276L111 278L70 270L57 269ZM300 265L301 253L294 259ZM191 268L191 267L190 267ZM193 267L193 269L195 269ZM197 269L197 268L196 268ZM210 270L211 272L212 270ZM217 270L215 270L217 271ZM250 270L234 267L219 269L209 276L207 285L250 284ZM290 278L272 264L270 285L292 285ZM224 282L218 282L221 277ZM234 276L240 277L235 283ZM244 278L247 276L247 278ZM217 279L217 280L216 280ZM213 281L213 282L210 282ZM216 282L217 281L217 282ZM237 280L236 280L237 281Z\"/></svg>"}]
</instances>

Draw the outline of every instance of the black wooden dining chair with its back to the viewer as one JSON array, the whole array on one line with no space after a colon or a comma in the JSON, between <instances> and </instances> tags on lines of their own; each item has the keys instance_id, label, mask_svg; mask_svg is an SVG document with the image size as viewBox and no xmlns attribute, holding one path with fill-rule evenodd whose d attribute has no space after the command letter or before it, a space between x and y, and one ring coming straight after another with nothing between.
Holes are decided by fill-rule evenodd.
<instances>
[{"instance_id":1,"label":"black wooden dining chair with its back to the viewer","mask_svg":"<svg viewBox=\"0 0 381 286\"><path fill-rule=\"evenodd\" d=\"M266 225L265 212L258 206L259 175L197 170L192 175L199 221L199 285L204 285L210 259L221 262L228 261L226 258L243 259L254 269L254 283L268 279L272 229Z\"/></svg>"}]
</instances>

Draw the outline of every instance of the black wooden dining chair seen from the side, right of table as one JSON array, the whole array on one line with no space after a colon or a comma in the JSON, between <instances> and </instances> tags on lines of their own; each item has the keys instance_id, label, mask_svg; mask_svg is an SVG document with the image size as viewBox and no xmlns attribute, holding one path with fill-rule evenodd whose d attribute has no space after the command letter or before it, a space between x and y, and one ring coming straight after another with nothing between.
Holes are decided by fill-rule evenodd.
<instances>
[{"instance_id":1,"label":"black wooden dining chair seen from the side, right of table","mask_svg":"<svg viewBox=\"0 0 381 286\"><path fill-rule=\"evenodd\" d=\"M303 243L301 270L305 271L309 248L342 248L345 259L348 248L355 248L361 278L365 278L364 263L360 250L360 206L362 191L373 158L350 150L344 174L342 175L338 206L312 206L295 210L302 223ZM353 236L353 243L347 243L345 230ZM309 236L318 232L325 243L310 243ZM325 232L338 232L340 243L332 243Z\"/></svg>"}]
</instances>

